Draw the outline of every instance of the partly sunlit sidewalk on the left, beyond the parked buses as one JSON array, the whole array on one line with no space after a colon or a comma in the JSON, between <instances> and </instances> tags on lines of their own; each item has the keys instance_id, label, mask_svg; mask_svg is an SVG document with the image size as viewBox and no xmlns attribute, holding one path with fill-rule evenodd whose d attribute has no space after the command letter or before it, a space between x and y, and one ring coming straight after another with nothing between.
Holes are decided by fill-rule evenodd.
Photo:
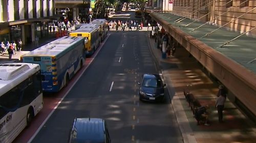
<instances>
[{"instance_id":1,"label":"partly sunlit sidewalk on the left, beyond the parked buses","mask_svg":"<svg viewBox=\"0 0 256 143\"><path fill-rule=\"evenodd\" d=\"M50 37L45 37L45 38L41 38L39 41L38 41L38 47L42 46L42 45L45 45L53 40L55 40L56 38L54 38L53 36L50 36ZM13 63L13 62L19 62L20 61L20 56L30 52L31 50L34 50L36 49L37 46L35 44L35 42L32 42L30 44L27 44L27 45L24 45L22 47L22 51L17 51L16 54L13 54L12 55L12 60L9 61L8 58L9 58L9 54L8 52L6 51L5 52L5 55L0 55L0 64L2 63Z\"/></svg>"}]
</instances>

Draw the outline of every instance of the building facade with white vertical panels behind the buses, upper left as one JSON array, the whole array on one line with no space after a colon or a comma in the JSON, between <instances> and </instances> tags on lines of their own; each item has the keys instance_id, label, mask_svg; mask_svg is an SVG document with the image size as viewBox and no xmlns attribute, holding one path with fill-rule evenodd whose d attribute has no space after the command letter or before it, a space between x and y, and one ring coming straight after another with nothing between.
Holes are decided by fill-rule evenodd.
<instances>
[{"instance_id":1,"label":"building facade with white vertical panels behind the buses, upper left","mask_svg":"<svg viewBox=\"0 0 256 143\"><path fill-rule=\"evenodd\" d=\"M0 0L0 41L31 43L47 36L48 22L57 17L54 0Z\"/></svg>"}]
</instances>

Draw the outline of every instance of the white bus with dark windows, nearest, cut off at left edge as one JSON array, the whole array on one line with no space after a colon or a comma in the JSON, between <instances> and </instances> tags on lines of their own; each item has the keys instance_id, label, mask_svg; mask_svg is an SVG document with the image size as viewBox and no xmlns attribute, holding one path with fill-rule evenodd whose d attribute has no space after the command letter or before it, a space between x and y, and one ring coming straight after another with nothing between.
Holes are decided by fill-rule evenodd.
<instances>
[{"instance_id":1,"label":"white bus with dark windows, nearest, cut off at left edge","mask_svg":"<svg viewBox=\"0 0 256 143\"><path fill-rule=\"evenodd\" d=\"M0 142L12 142L43 107L38 64L0 64Z\"/></svg>"}]
</instances>

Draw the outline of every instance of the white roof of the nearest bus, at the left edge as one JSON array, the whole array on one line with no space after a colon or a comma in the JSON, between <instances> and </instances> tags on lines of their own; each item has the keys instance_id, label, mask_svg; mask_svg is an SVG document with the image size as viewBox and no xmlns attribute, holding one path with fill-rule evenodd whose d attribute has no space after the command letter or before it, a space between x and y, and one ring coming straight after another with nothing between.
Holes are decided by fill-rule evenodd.
<instances>
[{"instance_id":1,"label":"white roof of the nearest bus, at the left edge","mask_svg":"<svg viewBox=\"0 0 256 143\"><path fill-rule=\"evenodd\" d=\"M38 64L5 63L0 64L0 96L40 70Z\"/></svg>"}]
</instances>

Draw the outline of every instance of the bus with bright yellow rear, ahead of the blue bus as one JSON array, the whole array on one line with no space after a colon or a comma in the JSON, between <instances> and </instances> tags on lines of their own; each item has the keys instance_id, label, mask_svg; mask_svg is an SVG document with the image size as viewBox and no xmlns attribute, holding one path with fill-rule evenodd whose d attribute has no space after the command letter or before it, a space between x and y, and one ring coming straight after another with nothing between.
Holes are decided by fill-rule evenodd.
<instances>
[{"instance_id":1,"label":"bus with bright yellow rear, ahead of the blue bus","mask_svg":"<svg viewBox=\"0 0 256 143\"><path fill-rule=\"evenodd\" d=\"M84 37L86 55L92 55L100 44L99 28L98 26L80 27L78 30L69 33L72 37Z\"/></svg>"}]
</instances>

